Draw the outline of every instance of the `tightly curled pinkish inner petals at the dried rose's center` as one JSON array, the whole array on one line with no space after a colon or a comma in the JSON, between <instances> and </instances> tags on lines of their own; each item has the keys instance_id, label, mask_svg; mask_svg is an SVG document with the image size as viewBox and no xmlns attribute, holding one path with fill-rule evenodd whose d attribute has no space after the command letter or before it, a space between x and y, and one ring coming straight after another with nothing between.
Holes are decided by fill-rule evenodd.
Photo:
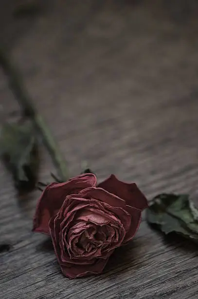
<instances>
[{"instance_id":1,"label":"tightly curled pinkish inner petals at the dried rose's center","mask_svg":"<svg viewBox=\"0 0 198 299\"><path fill-rule=\"evenodd\" d=\"M125 230L119 218L90 206L76 214L70 230L65 232L65 244L70 256L95 257L108 254L118 247L124 236Z\"/></svg>"}]
</instances>

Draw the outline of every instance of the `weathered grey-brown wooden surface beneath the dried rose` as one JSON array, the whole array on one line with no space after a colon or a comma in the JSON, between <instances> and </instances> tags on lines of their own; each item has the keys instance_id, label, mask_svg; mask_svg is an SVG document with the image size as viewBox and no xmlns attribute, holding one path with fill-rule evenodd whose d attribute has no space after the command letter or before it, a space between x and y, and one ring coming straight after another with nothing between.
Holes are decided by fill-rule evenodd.
<instances>
[{"instance_id":1,"label":"weathered grey-brown wooden surface beneath the dried rose","mask_svg":"<svg viewBox=\"0 0 198 299\"><path fill-rule=\"evenodd\" d=\"M71 175L86 160L99 180L115 173L148 199L188 192L198 203L196 1L42 1L23 20L6 2L1 40ZM0 72L0 119L18 113ZM40 179L49 181L54 168L41 154ZM31 232L39 194L18 196L0 164L0 243L11 244L0 253L1 299L198 298L198 248L164 238L144 216L103 275L63 277L48 239Z\"/></svg>"}]
</instances>

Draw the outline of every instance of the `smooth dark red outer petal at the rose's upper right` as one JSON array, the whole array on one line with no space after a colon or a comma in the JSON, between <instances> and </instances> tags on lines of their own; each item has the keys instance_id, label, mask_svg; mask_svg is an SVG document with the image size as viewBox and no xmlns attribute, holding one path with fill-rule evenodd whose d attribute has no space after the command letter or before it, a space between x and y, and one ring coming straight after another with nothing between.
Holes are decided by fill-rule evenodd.
<instances>
[{"instance_id":1,"label":"smooth dark red outer petal at the rose's upper right","mask_svg":"<svg viewBox=\"0 0 198 299\"><path fill-rule=\"evenodd\" d=\"M124 199L126 204L131 207L143 210L148 206L144 194L135 183L128 184L122 182L114 174L111 174L108 179L98 184L98 187Z\"/></svg>"}]
</instances>

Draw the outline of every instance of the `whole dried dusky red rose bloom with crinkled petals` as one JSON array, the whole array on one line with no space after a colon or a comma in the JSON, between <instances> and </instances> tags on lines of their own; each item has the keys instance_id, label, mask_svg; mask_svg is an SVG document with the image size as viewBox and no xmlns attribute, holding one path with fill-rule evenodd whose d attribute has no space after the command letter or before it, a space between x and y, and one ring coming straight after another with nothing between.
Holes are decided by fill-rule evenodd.
<instances>
[{"instance_id":1,"label":"whole dried dusky red rose bloom with crinkled petals","mask_svg":"<svg viewBox=\"0 0 198 299\"><path fill-rule=\"evenodd\" d=\"M136 234L147 200L136 184L114 175L97 185L94 174L52 183L36 207L33 231L51 235L63 274L101 273L115 248Z\"/></svg>"}]
</instances>

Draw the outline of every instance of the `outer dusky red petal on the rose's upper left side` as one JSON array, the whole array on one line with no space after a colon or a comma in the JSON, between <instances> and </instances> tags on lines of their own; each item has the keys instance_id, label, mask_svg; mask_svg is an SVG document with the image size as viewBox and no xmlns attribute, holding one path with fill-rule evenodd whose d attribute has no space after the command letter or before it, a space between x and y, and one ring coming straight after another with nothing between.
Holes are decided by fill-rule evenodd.
<instances>
[{"instance_id":1,"label":"outer dusky red petal on the rose's upper left side","mask_svg":"<svg viewBox=\"0 0 198 299\"><path fill-rule=\"evenodd\" d=\"M36 206L33 231L49 235L49 220L61 208L65 197L95 186L96 177L92 173L76 176L65 183L52 183L43 191Z\"/></svg>"}]
</instances>

